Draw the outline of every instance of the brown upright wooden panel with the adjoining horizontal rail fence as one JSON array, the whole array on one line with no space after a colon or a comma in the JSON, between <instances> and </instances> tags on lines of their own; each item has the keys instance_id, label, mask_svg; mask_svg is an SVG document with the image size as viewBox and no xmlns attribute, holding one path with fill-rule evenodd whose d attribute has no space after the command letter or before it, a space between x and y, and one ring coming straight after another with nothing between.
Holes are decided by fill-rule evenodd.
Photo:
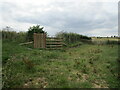
<instances>
[{"instance_id":1,"label":"brown upright wooden panel with the adjoining horizontal rail fence","mask_svg":"<svg viewBox=\"0 0 120 90\"><path fill-rule=\"evenodd\" d=\"M46 37L46 34L34 34L34 48L61 49L62 38Z\"/></svg>"}]
</instances>

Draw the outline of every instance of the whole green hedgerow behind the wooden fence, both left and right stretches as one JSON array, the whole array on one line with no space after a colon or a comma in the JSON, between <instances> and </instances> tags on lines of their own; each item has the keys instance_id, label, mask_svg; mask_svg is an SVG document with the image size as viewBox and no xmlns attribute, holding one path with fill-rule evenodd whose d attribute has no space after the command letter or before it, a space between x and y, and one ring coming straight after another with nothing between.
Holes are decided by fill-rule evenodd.
<instances>
[{"instance_id":1,"label":"whole green hedgerow behind the wooden fence, both left and right stretches","mask_svg":"<svg viewBox=\"0 0 120 90\"><path fill-rule=\"evenodd\" d=\"M45 33L44 27L41 27L40 25L29 27L27 32L16 32L9 30L10 27L6 27L3 30L0 31L2 33L2 39L11 40L11 41L19 41L19 42L25 42L25 41L33 41L33 34L34 33ZM56 34L56 37L64 38L64 41L66 43L75 43L81 40L91 40L91 37L87 37L84 35L80 35L77 33L67 33L67 32L58 32Z\"/></svg>"}]
</instances>

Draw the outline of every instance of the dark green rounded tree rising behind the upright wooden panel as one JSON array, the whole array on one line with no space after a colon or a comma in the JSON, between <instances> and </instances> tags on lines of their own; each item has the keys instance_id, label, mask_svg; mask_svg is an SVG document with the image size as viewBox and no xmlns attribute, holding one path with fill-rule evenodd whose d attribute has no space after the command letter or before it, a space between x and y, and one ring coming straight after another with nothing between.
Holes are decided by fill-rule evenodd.
<instances>
[{"instance_id":1,"label":"dark green rounded tree rising behind the upright wooden panel","mask_svg":"<svg viewBox=\"0 0 120 90\"><path fill-rule=\"evenodd\" d=\"M27 32L27 38L29 41L33 41L33 34L34 33L46 33L44 30L43 30L44 27L40 27L40 25L36 25L36 26L32 26L28 29L28 32Z\"/></svg>"}]
</instances>

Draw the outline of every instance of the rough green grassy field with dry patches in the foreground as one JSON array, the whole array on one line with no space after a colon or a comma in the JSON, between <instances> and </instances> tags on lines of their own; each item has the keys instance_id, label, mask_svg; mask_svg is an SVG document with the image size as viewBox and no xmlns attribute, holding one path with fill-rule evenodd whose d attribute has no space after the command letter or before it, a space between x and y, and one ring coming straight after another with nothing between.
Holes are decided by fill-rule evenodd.
<instances>
[{"instance_id":1,"label":"rough green grassy field with dry patches in the foreground","mask_svg":"<svg viewBox=\"0 0 120 90\"><path fill-rule=\"evenodd\" d=\"M120 87L118 45L40 50L3 41L4 88Z\"/></svg>"}]
</instances>

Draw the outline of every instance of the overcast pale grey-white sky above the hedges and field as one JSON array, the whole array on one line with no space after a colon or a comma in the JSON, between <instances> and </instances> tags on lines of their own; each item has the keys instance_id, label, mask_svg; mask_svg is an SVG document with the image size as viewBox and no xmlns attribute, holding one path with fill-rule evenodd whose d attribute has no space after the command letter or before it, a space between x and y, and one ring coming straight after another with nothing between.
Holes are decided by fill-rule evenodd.
<instances>
[{"instance_id":1,"label":"overcast pale grey-white sky above the hedges and field","mask_svg":"<svg viewBox=\"0 0 120 90\"><path fill-rule=\"evenodd\" d=\"M119 0L1 0L0 28L27 31L41 25L49 35L60 31L88 36L118 35Z\"/></svg>"}]
</instances>

